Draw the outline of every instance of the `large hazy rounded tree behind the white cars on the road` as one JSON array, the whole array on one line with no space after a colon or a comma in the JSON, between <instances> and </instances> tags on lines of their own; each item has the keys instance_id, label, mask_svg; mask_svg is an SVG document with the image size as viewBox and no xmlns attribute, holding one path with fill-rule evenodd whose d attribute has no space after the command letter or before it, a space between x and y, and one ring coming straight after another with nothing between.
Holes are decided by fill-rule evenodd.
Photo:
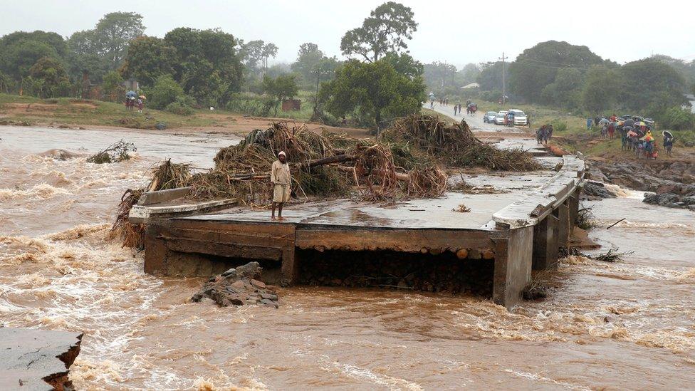
<instances>
[{"instance_id":1,"label":"large hazy rounded tree behind the white cars on the road","mask_svg":"<svg viewBox=\"0 0 695 391\"><path fill-rule=\"evenodd\" d=\"M523 51L509 64L510 90L531 103L542 103L541 93L553 83L558 71L575 68L586 71L589 66L604 63L586 46L567 42L546 41Z\"/></svg>"}]
</instances>

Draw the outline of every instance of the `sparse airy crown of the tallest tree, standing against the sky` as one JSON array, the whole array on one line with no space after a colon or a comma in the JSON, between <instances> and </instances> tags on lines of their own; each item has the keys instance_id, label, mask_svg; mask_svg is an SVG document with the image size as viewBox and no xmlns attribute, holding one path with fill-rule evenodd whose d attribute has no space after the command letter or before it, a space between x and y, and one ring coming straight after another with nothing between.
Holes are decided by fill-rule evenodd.
<instances>
[{"instance_id":1,"label":"sparse airy crown of the tallest tree, standing against the sky","mask_svg":"<svg viewBox=\"0 0 695 391\"><path fill-rule=\"evenodd\" d=\"M376 62L388 52L405 51L406 41L417 31L417 23L410 7L388 1L362 22L362 26L345 33L340 50L345 56L362 56L365 61Z\"/></svg>"}]
</instances>

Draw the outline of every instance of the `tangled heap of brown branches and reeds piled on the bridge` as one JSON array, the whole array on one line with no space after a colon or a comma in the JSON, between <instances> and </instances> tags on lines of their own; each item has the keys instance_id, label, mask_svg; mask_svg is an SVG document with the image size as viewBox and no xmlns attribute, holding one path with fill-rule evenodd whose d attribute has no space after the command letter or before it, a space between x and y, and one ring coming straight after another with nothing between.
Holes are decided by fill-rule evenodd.
<instances>
[{"instance_id":1,"label":"tangled heap of brown branches and reeds piled on the bridge","mask_svg":"<svg viewBox=\"0 0 695 391\"><path fill-rule=\"evenodd\" d=\"M274 122L254 130L238 145L222 148L211 170L192 174L188 165L170 160L155 170L143 189L122 197L114 236L127 246L142 245L142 226L127 214L142 192L192 187L191 199L237 199L268 204L269 170L279 152L291 165L295 197L352 197L370 202L439 197L448 183L442 167L487 167L528 171L540 166L523 150L498 150L478 140L465 121L446 125L436 116L409 115L395 120L377 139L357 139L330 132L318 134L305 125Z\"/></svg>"}]
</instances>

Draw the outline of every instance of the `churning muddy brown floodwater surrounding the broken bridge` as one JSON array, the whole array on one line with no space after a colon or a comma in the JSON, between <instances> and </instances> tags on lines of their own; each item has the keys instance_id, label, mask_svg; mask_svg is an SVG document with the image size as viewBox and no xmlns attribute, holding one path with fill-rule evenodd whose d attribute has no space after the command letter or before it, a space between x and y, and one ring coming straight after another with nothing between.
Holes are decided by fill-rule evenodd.
<instances>
[{"instance_id":1,"label":"churning muddy brown floodwater surrounding the broken bridge","mask_svg":"<svg viewBox=\"0 0 695 391\"><path fill-rule=\"evenodd\" d=\"M167 157L209 167L234 138L0 127L0 325L84 332L79 390L689 388L695 214L638 193L585 203L605 263L564 259L545 301L286 288L281 306L187 303L199 278L158 278L108 240L124 189ZM120 139L128 162L85 156ZM56 160L41 152L83 154ZM606 230L605 226L626 218Z\"/></svg>"}]
</instances>

